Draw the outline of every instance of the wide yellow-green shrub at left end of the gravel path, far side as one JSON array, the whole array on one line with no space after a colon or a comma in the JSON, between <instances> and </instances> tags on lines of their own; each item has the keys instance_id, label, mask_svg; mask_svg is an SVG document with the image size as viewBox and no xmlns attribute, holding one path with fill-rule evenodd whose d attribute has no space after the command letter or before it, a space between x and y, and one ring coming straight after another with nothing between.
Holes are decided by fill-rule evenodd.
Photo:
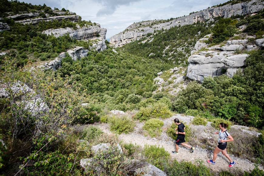
<instances>
[{"instance_id":1,"label":"wide yellow-green shrub at left end of the gravel path, far side","mask_svg":"<svg viewBox=\"0 0 264 176\"><path fill-rule=\"evenodd\" d=\"M117 134L131 132L134 130L135 122L129 120L127 117L111 117L108 119L110 123L110 130Z\"/></svg>"}]
</instances>

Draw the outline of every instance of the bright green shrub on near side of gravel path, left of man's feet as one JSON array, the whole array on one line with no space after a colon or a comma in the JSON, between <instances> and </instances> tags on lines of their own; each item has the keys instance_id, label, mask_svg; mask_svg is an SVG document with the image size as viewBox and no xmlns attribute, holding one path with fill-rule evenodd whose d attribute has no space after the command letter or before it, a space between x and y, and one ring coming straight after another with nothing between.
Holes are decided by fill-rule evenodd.
<instances>
[{"instance_id":1,"label":"bright green shrub on near side of gravel path, left of man's feet","mask_svg":"<svg viewBox=\"0 0 264 176\"><path fill-rule=\"evenodd\" d=\"M164 147L157 147L156 145L145 144L143 154L147 162L153 164L157 168L163 170L165 163L168 162L170 154L165 151Z\"/></svg>"}]
</instances>

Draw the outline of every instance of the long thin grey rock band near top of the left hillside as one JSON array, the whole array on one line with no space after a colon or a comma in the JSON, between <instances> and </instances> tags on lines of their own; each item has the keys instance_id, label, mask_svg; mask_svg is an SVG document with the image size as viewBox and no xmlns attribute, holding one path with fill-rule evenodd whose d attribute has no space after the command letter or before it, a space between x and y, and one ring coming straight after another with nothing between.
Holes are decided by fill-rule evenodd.
<instances>
[{"instance_id":1,"label":"long thin grey rock band near top of the left hillside","mask_svg":"<svg viewBox=\"0 0 264 176\"><path fill-rule=\"evenodd\" d=\"M67 16L52 16L52 17L47 17L47 18L35 18L35 19L25 19L25 20L21 20L21 21L16 21L22 24L30 24L32 23L33 25L38 24L39 22L41 22L42 20L48 22L48 21L54 21L54 20L58 20L61 21L63 19L65 20L70 20L71 22L77 22L78 21L79 16L78 15L67 15Z\"/></svg>"}]
</instances>

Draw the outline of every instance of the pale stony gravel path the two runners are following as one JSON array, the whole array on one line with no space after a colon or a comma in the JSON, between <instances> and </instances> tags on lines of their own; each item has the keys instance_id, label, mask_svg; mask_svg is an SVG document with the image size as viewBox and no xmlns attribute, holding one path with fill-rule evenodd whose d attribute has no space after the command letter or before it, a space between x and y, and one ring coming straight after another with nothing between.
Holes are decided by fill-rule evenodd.
<instances>
[{"instance_id":1,"label":"pale stony gravel path the two runners are following","mask_svg":"<svg viewBox=\"0 0 264 176\"><path fill-rule=\"evenodd\" d=\"M161 134L161 136L159 137L159 139L153 137L145 137L144 134L142 133L142 126L144 124L144 122L137 122L136 123L136 127L134 132L130 132L128 134L120 134L119 135L119 140L124 141L125 143L132 143L132 144L137 144L140 145L142 147L144 147L145 144L149 144L149 145L159 145L160 147L164 147L164 149L166 151L168 151L171 154L171 159L177 159L177 161L191 161L191 162L195 162L196 159L204 161L205 165L208 168L211 168L213 171L221 171L221 170L230 170L232 168L238 168L241 171L250 171L253 170L255 168L254 163L252 163L251 161L247 160L247 159L241 159L239 157L234 157L233 155L230 155L230 157L233 159L233 161L235 161L237 164L235 164L232 168L229 168L229 161L228 159L220 152L217 156L216 159L216 164L208 164L206 161L208 159L212 159L213 157L213 151L208 151L206 149L202 149L199 146L194 146L195 147L195 151L194 153L190 152L190 149L184 146L179 146L179 154L175 155L172 154L171 151L175 151L175 144L174 144L174 140L172 140L170 137L167 136L165 129L168 127L168 125L171 125L173 120L175 118L178 118L180 120L180 122L182 119L182 116L180 116L180 114L177 114L175 116L172 116L171 118L168 119L164 119L164 126L163 126L163 132ZM184 124L188 124L188 120L186 120L186 118L184 119ZM98 126L103 130L103 132L107 133L107 134L111 134L112 132L110 131L110 127L108 124L98 124ZM200 127L200 126L198 126ZM206 127L204 127L206 128ZM201 131L205 131L203 129L201 129ZM205 133L205 132L203 132ZM263 167L260 167L260 169L263 170Z\"/></svg>"}]
</instances>

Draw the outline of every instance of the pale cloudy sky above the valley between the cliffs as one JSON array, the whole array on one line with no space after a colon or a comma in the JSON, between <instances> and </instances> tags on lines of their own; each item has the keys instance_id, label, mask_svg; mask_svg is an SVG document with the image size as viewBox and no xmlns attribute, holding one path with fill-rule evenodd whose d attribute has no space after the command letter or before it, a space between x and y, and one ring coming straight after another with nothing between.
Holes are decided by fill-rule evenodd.
<instances>
[{"instance_id":1,"label":"pale cloudy sky above the valley between the cliffs","mask_svg":"<svg viewBox=\"0 0 264 176\"><path fill-rule=\"evenodd\" d=\"M122 32L134 22L170 19L204 10L228 0L24 0L33 5L68 9L83 20L107 29L106 38ZM23 2L23 0L20 0Z\"/></svg>"}]
</instances>

